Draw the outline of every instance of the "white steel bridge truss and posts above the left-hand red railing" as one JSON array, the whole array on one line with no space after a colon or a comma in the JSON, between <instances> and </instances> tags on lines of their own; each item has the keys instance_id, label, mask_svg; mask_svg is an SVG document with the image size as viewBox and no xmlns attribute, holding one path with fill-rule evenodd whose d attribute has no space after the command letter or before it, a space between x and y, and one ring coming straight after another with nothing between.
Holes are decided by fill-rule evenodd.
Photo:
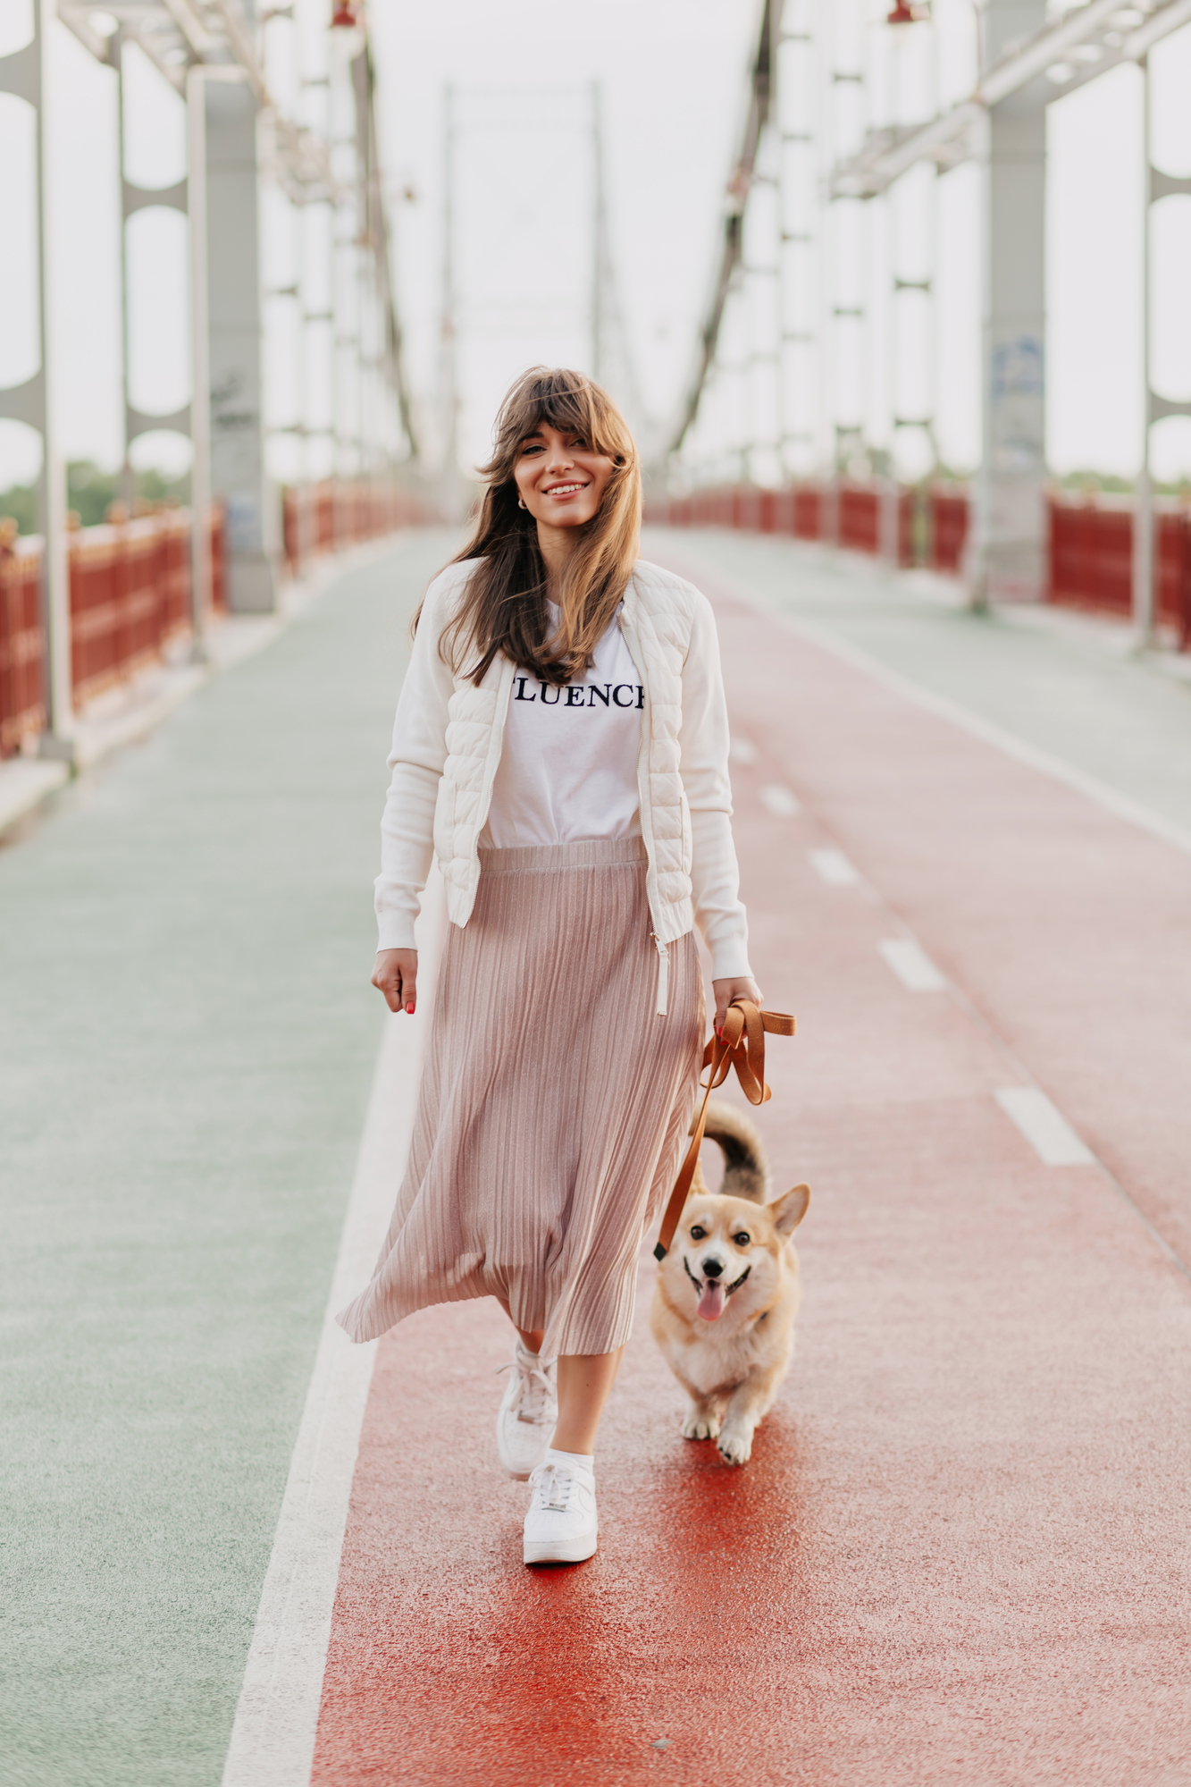
<instances>
[{"instance_id":1,"label":"white steel bridge truss and posts above the left-hand red railing","mask_svg":"<svg viewBox=\"0 0 1191 1787\"><path fill-rule=\"evenodd\" d=\"M270 91L264 27L291 20L304 0L279 0L257 13L252 0L34 0L32 39L0 57L0 93L25 100L37 114L39 218L39 368L21 386L0 391L0 416L41 434L37 525L43 550L43 618L48 658L46 752L71 752L70 591L66 566L66 468L59 450L59 402L48 350L46 159L54 95L45 55L59 18L120 80L120 155L125 313L125 474L132 441L155 429L189 436L191 509L209 511L220 497L229 511L229 602L234 609L270 609L277 563L277 500L268 488L262 418L261 322L266 300L298 306L298 363L293 373L296 420L273 432L296 434L309 477L307 440L323 434L336 472L391 472L398 459L418 466L418 436L402 363L402 331L393 295L389 220L377 152L373 63L357 0L339 0L330 30L321 32L323 68L302 80L302 105L321 111L289 116ZM123 166L123 63L136 45L186 102L187 175L171 188L141 188ZM314 91L311 91L314 89ZM321 89L321 93L318 91ZM259 184L273 184L296 207L304 241L309 207L325 207L330 257L312 268L309 245L298 248L298 275L284 289L262 289L257 223ZM191 399L171 415L150 415L129 390L127 223L164 206L187 220ZM312 277L312 275L323 277ZM311 331L330 329L330 427L311 427ZM327 457L327 454L323 454ZM195 645L211 588L209 529L191 529L191 600Z\"/></svg>"}]
</instances>

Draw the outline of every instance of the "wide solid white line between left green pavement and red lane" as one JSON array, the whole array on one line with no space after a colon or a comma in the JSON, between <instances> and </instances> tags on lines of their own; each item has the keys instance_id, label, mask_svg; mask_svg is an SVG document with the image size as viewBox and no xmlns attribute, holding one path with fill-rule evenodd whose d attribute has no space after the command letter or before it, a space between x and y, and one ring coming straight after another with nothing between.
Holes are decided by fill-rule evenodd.
<instances>
[{"instance_id":1,"label":"wide solid white line between left green pavement and red lane","mask_svg":"<svg viewBox=\"0 0 1191 1787\"><path fill-rule=\"evenodd\" d=\"M443 931L437 874L425 906L421 942L429 947L420 960L434 963ZM343 1533L377 1356L375 1344L354 1346L334 1317L368 1283L393 1213L432 995L423 970L416 1015L384 1020L339 1260L261 1590L223 1787L309 1787Z\"/></svg>"}]
</instances>

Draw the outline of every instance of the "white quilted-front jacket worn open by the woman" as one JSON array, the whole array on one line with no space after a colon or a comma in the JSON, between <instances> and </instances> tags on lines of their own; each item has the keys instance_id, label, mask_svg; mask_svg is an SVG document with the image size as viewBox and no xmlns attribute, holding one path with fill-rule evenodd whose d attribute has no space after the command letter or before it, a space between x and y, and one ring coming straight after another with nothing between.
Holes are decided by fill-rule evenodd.
<instances>
[{"instance_id":1,"label":"white quilted-front jacket worn open by the woman","mask_svg":"<svg viewBox=\"0 0 1191 1787\"><path fill-rule=\"evenodd\" d=\"M470 561L448 565L427 590L396 704L377 877L380 949L416 947L414 919L432 854L452 922L464 926L475 904L479 836L516 665L495 658L475 688L439 658L443 627L473 568ZM695 922L711 951L712 979L750 972L730 826L729 715L711 604L689 583L637 559L620 629L645 686L637 790L662 1013L668 945Z\"/></svg>"}]
</instances>

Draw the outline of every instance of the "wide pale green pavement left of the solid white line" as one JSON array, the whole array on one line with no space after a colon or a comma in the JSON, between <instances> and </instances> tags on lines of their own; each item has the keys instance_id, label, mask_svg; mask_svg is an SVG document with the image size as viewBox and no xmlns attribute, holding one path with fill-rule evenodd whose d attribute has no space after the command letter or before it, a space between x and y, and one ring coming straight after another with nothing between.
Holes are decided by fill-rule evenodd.
<instances>
[{"instance_id":1,"label":"wide pale green pavement left of the solid white line","mask_svg":"<svg viewBox=\"0 0 1191 1787\"><path fill-rule=\"evenodd\" d=\"M345 572L0 851L0 1782L214 1787L352 1181L412 606Z\"/></svg>"}]
</instances>

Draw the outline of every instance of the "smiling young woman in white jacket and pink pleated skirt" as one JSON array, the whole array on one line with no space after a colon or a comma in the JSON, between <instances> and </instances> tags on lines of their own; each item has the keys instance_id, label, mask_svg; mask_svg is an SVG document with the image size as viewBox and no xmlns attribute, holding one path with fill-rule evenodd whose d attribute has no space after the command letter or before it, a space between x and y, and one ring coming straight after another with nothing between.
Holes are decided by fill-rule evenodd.
<instances>
[{"instance_id":1,"label":"smiling young woman in white jacket and pink pleated skirt","mask_svg":"<svg viewBox=\"0 0 1191 1787\"><path fill-rule=\"evenodd\" d=\"M729 727L705 599L637 559L641 474L577 372L514 384L470 545L430 584L396 708L373 985L418 1003L414 917L452 920L405 1179L339 1321L373 1340L496 1297L518 1330L496 1419L529 1478L527 1564L596 1548L595 1439L637 1253L677 1170L712 960L748 972Z\"/></svg>"}]
</instances>

